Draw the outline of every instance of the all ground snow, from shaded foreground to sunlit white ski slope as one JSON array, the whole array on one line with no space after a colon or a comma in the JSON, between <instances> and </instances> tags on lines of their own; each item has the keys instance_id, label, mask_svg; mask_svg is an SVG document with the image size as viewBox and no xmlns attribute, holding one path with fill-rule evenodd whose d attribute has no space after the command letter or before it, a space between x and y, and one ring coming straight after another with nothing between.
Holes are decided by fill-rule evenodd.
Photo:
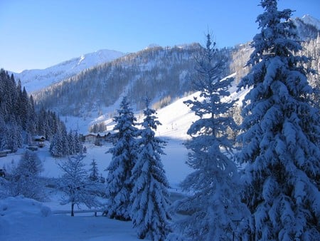
<instances>
[{"instance_id":1,"label":"all ground snow, from shaded foreground to sunlit white ski slope","mask_svg":"<svg viewBox=\"0 0 320 241\"><path fill-rule=\"evenodd\" d=\"M247 90L233 93L232 98L241 98L246 92ZM171 186L171 193L175 195L181 195L179 184L192 171L186 165L188 152L183 143L190 138L186 131L197 119L183 101L198 96L199 93L194 93L178 99L171 105L158 110L156 115L162 124L158 126L156 136L167 141L164 148L166 155L161 156L161 161ZM112 108L116 107L110 107L107 112ZM139 119L139 116L143 118L140 114L136 113L138 121L142 120ZM69 116L61 119L66 121L68 129L78 130L78 133L87 133L88 126L102 120L107 123L108 131L112 130L114 125L107 113L93 120ZM48 151L49 146L50 143L46 141L45 147L37 150L44 169L41 175L46 178L58 178L62 173L57 163L64 159L53 158ZM85 168L89 170L92 159L95 159L99 172L106 178L105 169L112 159L112 155L106 152L112 147L112 144L105 143L102 146L96 146L92 143L85 143L85 146L87 148L83 159L86 164ZM25 149L19 149L17 153L10 153L0 158L1 168L5 166L9 171L12 165L18 163L24 151ZM60 205L61 194L58 191L50 190L48 193L50 200L42 203L22 197L0 200L0 240L138 240L131 222L110 220L102 217L101 213L98 213L98 217L94 217L93 212L85 214L76 212L75 217L70 217L69 213L55 214L61 210L69 211L70 205ZM77 210L75 208L75 211Z\"/></svg>"}]
</instances>

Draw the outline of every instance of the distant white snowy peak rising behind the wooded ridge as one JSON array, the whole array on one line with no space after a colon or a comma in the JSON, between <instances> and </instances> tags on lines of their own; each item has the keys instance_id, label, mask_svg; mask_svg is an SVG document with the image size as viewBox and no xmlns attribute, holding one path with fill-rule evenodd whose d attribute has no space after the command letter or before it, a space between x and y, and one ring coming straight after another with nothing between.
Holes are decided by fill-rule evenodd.
<instances>
[{"instance_id":1,"label":"distant white snowy peak rising behind the wooded ridge","mask_svg":"<svg viewBox=\"0 0 320 241\"><path fill-rule=\"evenodd\" d=\"M53 83L58 83L65 78L74 76L87 68L113 61L116 58L124 56L124 54L119 51L103 49L87 53L78 58L72 58L46 69L33 69L14 73L14 76L17 80L21 80L22 86L26 87L28 93L32 93L41 88L46 88Z\"/></svg>"}]
</instances>

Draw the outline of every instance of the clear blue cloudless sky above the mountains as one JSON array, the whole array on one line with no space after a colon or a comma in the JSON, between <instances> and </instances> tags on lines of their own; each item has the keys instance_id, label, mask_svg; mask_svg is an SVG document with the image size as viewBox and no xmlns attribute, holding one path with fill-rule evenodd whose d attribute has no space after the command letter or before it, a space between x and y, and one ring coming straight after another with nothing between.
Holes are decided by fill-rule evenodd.
<instances>
[{"instance_id":1,"label":"clear blue cloudless sky above the mountains","mask_svg":"<svg viewBox=\"0 0 320 241\"><path fill-rule=\"evenodd\" d=\"M100 49L142 50L151 43L218 47L257 34L260 0L0 0L0 68L46 68ZM320 0L279 0L278 7L320 19Z\"/></svg>"}]
</instances>

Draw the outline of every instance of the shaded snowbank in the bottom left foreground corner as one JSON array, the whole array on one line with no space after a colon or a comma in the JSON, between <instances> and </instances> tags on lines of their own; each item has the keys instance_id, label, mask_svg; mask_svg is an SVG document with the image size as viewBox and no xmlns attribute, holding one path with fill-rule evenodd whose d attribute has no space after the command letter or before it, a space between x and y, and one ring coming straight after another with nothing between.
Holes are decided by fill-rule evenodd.
<instances>
[{"instance_id":1,"label":"shaded snowbank in the bottom left foreground corner","mask_svg":"<svg viewBox=\"0 0 320 241\"><path fill-rule=\"evenodd\" d=\"M0 240L138 240L130 222L107 217L54 215L41 202L0 200Z\"/></svg>"}]
</instances>

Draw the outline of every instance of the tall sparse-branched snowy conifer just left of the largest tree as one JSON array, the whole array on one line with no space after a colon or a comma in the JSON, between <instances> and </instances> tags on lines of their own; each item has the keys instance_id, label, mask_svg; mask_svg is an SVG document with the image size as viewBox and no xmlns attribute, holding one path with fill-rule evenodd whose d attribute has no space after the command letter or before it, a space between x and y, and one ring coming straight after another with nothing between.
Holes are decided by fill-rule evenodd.
<instances>
[{"instance_id":1,"label":"tall sparse-branched snowy conifer just left of the largest tree","mask_svg":"<svg viewBox=\"0 0 320 241\"><path fill-rule=\"evenodd\" d=\"M174 204L177 211L190 215L178 222L178 228L191 240L231 240L242 232L246 213L240 200L238 170L230 158L233 145L227 130L235 128L235 122L225 115L234 101L221 101L230 96L228 87L233 78L223 79L225 58L210 34L197 63L198 78L193 84L200 98L185 102L199 117L188 129L191 140L186 142L187 164L194 171L181 183L194 194Z\"/></svg>"}]
</instances>

